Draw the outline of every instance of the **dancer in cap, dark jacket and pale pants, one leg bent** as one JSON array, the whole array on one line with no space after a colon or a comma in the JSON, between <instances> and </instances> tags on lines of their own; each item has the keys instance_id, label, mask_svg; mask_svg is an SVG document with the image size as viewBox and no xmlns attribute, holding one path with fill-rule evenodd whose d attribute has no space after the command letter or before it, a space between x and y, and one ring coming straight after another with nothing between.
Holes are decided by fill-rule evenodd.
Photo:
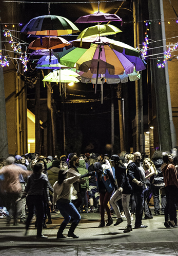
<instances>
[{"instance_id":1,"label":"dancer in cap, dark jacket and pale pants, one leg bent","mask_svg":"<svg viewBox=\"0 0 178 256\"><path fill-rule=\"evenodd\" d=\"M126 167L124 164L121 163L120 157L118 157L117 155L112 155L111 160L114 161L115 177L118 186L118 190L116 190L110 198L110 204L113 207L117 216L117 221L114 226L117 226L124 221L117 204L117 201L122 198L122 205L127 218L127 227L125 228L124 233L128 233L132 231L131 214L129 210L129 201L130 195L132 193L132 187L129 184L129 180L127 178Z\"/></svg>"}]
</instances>

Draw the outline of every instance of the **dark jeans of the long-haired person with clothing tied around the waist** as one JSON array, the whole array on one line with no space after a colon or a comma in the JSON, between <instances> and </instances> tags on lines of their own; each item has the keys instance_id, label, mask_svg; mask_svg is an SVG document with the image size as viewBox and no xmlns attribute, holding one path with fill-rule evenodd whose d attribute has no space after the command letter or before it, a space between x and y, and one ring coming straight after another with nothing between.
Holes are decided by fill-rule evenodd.
<instances>
[{"instance_id":1,"label":"dark jeans of the long-haired person with clothing tied around the waist","mask_svg":"<svg viewBox=\"0 0 178 256\"><path fill-rule=\"evenodd\" d=\"M154 212L160 212L160 188L161 186L152 186L153 190L153 201L154 201ZM161 195L161 210L165 211L166 207L166 196Z\"/></svg>"}]
</instances>

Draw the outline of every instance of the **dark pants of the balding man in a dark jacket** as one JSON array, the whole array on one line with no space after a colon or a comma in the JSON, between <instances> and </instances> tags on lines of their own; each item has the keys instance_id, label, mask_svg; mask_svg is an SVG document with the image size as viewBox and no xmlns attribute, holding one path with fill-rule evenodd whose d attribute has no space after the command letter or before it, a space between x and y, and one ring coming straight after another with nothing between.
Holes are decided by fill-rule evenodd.
<instances>
[{"instance_id":1,"label":"dark pants of the balding man in a dark jacket","mask_svg":"<svg viewBox=\"0 0 178 256\"><path fill-rule=\"evenodd\" d=\"M142 216L144 210L144 192L136 191L133 192L135 203L136 203L136 211L135 211L135 227L142 225Z\"/></svg>"}]
</instances>

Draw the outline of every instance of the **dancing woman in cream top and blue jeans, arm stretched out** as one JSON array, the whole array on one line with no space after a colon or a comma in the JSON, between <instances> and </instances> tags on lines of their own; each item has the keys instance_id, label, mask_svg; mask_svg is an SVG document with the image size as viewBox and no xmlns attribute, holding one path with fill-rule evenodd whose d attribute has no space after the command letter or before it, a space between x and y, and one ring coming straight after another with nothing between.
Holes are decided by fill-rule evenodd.
<instances>
[{"instance_id":1,"label":"dancing woman in cream top and blue jeans, arm stretched out","mask_svg":"<svg viewBox=\"0 0 178 256\"><path fill-rule=\"evenodd\" d=\"M60 213L63 215L64 220L58 229L57 238L65 238L65 237L73 237L78 238L73 232L77 227L78 223L81 220L81 215L78 213L76 207L71 202L72 199L76 199L77 192L73 187L73 183L78 179L82 179L84 177L92 175L88 173L86 175L81 175L73 170L73 177L66 178L67 170L61 169L58 172L58 181L56 181L53 185L54 194L53 194L53 203L56 202L57 209L60 210ZM70 226L68 235L63 235L63 231L67 224L70 221L70 218L73 219L73 222Z\"/></svg>"}]
</instances>

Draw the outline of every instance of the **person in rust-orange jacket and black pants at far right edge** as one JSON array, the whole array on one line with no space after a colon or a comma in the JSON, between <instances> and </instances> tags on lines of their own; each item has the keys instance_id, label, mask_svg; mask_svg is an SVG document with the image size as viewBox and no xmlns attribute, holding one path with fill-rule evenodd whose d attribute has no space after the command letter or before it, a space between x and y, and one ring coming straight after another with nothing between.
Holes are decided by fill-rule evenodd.
<instances>
[{"instance_id":1,"label":"person in rust-orange jacket and black pants at far right edge","mask_svg":"<svg viewBox=\"0 0 178 256\"><path fill-rule=\"evenodd\" d=\"M165 207L165 223L166 228L178 228L176 217L175 202L178 196L178 179L177 170L173 165L173 157L171 153L167 153L163 156L164 164L161 166L163 173L165 189L166 189L166 207ZM168 215L170 221L168 221Z\"/></svg>"}]
</instances>

